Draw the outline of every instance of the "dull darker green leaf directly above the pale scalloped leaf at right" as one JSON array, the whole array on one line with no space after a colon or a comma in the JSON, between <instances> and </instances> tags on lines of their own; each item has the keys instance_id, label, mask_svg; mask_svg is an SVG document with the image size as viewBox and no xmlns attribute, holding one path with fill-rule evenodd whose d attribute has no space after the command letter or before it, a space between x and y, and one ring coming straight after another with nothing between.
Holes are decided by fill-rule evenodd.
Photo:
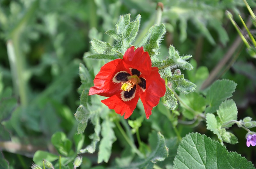
<instances>
[{"instance_id":1,"label":"dull darker green leaf directly above the pale scalloped leaf at right","mask_svg":"<svg viewBox=\"0 0 256 169\"><path fill-rule=\"evenodd\" d=\"M236 83L227 79L215 81L206 93L206 102L209 105L206 113L213 113L219 108L222 101L232 96L236 89Z\"/></svg>"}]
</instances>

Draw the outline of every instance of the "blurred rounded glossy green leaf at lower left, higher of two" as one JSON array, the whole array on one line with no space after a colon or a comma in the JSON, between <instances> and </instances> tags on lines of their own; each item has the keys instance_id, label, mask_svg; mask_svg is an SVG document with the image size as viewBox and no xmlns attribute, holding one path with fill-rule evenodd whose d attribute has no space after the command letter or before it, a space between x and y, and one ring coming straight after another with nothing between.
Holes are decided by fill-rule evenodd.
<instances>
[{"instance_id":1,"label":"blurred rounded glossy green leaf at lower left, higher of two","mask_svg":"<svg viewBox=\"0 0 256 169\"><path fill-rule=\"evenodd\" d=\"M66 137L65 133L56 132L52 135L51 141L60 154L68 156L69 152L71 151L72 143Z\"/></svg>"}]
</instances>

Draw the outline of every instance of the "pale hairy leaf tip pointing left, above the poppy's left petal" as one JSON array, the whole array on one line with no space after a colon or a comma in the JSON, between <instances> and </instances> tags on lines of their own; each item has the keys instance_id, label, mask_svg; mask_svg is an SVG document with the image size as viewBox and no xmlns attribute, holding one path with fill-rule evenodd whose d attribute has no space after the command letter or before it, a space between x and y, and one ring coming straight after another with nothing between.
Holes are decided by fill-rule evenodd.
<instances>
[{"instance_id":1,"label":"pale hairy leaf tip pointing left, above the poppy's left petal","mask_svg":"<svg viewBox=\"0 0 256 169\"><path fill-rule=\"evenodd\" d=\"M107 54L107 55L116 54L116 51L113 50L113 46L111 46L109 43L106 43L97 39L92 39L91 44L92 44L92 49L99 54Z\"/></svg>"}]
</instances>

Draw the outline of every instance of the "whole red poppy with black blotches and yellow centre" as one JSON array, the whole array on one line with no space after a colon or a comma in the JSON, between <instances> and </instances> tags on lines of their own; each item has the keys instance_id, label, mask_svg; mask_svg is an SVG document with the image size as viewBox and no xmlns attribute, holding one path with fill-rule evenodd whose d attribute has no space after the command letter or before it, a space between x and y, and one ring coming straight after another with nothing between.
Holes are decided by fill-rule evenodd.
<instances>
[{"instance_id":1,"label":"whole red poppy with black blotches and yellow centre","mask_svg":"<svg viewBox=\"0 0 256 169\"><path fill-rule=\"evenodd\" d=\"M101 67L89 95L109 97L101 102L125 119L132 115L140 97L149 118L151 110L165 94L165 81L158 68L151 66L148 52L144 52L143 47L134 51L132 46L123 59L112 60Z\"/></svg>"}]
</instances>

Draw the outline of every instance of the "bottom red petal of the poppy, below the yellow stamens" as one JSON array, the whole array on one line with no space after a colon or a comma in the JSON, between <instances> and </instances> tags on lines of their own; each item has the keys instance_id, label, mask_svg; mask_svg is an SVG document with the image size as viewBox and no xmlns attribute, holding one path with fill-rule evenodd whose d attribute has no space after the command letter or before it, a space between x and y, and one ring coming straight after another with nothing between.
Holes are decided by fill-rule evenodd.
<instances>
[{"instance_id":1,"label":"bottom red petal of the poppy, below the yellow stamens","mask_svg":"<svg viewBox=\"0 0 256 169\"><path fill-rule=\"evenodd\" d=\"M101 102L107 105L109 109L114 109L117 114L120 114L121 116L124 115L124 119L127 119L132 115L133 110L136 108L139 94L135 93L135 97L132 100L124 102L120 98L120 92L117 92L115 95L112 95Z\"/></svg>"}]
</instances>

